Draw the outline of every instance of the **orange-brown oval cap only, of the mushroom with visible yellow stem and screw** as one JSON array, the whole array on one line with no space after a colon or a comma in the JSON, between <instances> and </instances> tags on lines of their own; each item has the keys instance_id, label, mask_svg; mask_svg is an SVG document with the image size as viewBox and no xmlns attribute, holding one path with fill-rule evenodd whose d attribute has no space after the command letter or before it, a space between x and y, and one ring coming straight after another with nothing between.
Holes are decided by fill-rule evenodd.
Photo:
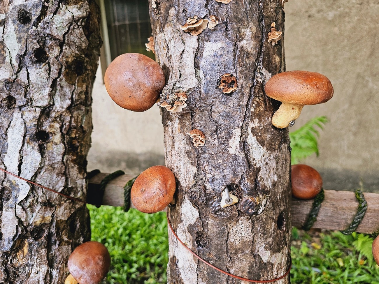
<instances>
[{"instance_id":1,"label":"orange-brown oval cap only, of the mushroom with visible yellow stem and screw","mask_svg":"<svg viewBox=\"0 0 379 284\"><path fill-rule=\"evenodd\" d=\"M268 97L293 105L316 105L333 97L330 80L316 72L287 71L272 76L266 83Z\"/></svg>"}]
</instances>

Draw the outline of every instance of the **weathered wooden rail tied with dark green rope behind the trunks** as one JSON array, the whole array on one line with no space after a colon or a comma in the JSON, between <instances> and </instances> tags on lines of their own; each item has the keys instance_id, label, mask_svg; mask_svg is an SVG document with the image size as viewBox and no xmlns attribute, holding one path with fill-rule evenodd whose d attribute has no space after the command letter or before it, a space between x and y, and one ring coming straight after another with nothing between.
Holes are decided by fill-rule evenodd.
<instances>
[{"instance_id":1,"label":"weathered wooden rail tied with dark green rope behind the trunks","mask_svg":"<svg viewBox=\"0 0 379 284\"><path fill-rule=\"evenodd\" d=\"M89 180L88 203L99 189L100 182L108 175L99 173ZM124 206L124 186L134 175L122 175L110 181L105 188L103 205ZM357 228L357 232L371 234L379 229L379 194L364 193L367 201L366 215ZM291 201L292 225L301 227L312 208L313 200ZM325 199L321 205L317 221L313 228L344 230L357 212L358 202L354 192L325 190ZM132 208L135 208L132 204ZM166 209L164 209L166 210Z\"/></svg>"}]
</instances>

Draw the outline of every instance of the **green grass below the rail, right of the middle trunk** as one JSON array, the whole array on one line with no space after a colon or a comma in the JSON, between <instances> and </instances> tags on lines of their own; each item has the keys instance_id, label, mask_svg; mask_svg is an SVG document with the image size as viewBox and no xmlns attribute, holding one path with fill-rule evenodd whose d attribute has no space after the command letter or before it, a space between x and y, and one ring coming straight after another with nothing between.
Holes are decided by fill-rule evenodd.
<instances>
[{"instance_id":1,"label":"green grass below the rail, right of the middle trunk","mask_svg":"<svg viewBox=\"0 0 379 284\"><path fill-rule=\"evenodd\" d=\"M379 284L370 236L335 231L311 237L293 228L292 239L291 283Z\"/></svg>"}]
</instances>

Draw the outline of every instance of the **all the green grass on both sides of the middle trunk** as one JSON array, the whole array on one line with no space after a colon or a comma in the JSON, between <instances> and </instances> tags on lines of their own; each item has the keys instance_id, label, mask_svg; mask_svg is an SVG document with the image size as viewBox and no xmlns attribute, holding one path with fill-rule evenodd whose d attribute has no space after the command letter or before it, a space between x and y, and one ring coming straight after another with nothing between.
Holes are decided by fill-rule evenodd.
<instances>
[{"instance_id":1,"label":"all the green grass on both sides of the middle trunk","mask_svg":"<svg viewBox=\"0 0 379 284\"><path fill-rule=\"evenodd\" d=\"M108 248L111 271L103 283L166 283L168 235L166 214L135 209L88 206L92 240ZM371 254L372 238L340 232L307 234L293 228L291 283L379 284Z\"/></svg>"}]
</instances>

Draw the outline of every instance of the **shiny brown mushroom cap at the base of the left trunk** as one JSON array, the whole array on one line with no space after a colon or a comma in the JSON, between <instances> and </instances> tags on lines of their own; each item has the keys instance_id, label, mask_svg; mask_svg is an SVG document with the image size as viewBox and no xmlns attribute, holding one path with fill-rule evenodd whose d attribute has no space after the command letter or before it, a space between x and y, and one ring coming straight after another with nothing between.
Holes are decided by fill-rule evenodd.
<instances>
[{"instance_id":1,"label":"shiny brown mushroom cap at the base of the left trunk","mask_svg":"<svg viewBox=\"0 0 379 284\"><path fill-rule=\"evenodd\" d=\"M79 284L100 283L108 273L111 257L106 247L99 242L82 243L71 253L67 266Z\"/></svg>"}]
</instances>

